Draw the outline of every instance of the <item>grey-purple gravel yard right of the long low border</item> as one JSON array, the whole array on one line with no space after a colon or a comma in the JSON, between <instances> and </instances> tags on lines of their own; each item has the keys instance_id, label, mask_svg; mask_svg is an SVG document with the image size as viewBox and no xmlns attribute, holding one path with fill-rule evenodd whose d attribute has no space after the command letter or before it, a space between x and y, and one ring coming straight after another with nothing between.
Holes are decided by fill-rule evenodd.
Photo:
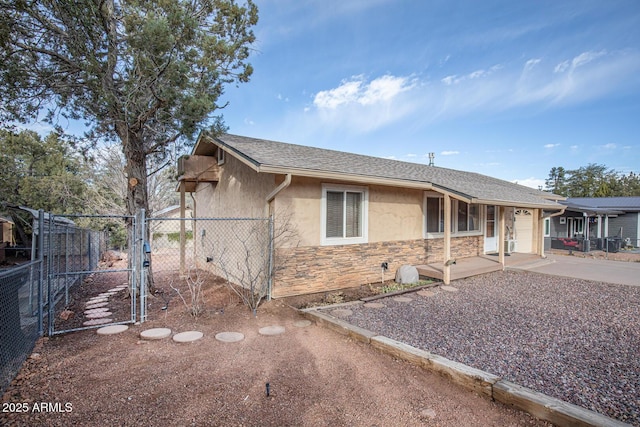
<instances>
[{"instance_id":1,"label":"grey-purple gravel yard right of the long low border","mask_svg":"<svg viewBox=\"0 0 640 427\"><path fill-rule=\"evenodd\" d=\"M350 323L640 426L640 287L506 271Z\"/></svg>"}]
</instances>

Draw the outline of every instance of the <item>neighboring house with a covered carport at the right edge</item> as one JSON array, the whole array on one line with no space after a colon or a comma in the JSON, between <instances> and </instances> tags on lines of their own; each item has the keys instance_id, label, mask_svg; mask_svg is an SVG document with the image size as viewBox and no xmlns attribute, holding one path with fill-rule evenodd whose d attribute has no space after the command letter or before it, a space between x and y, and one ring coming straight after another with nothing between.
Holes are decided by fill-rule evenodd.
<instances>
[{"instance_id":1,"label":"neighboring house with a covered carport at the right edge","mask_svg":"<svg viewBox=\"0 0 640 427\"><path fill-rule=\"evenodd\" d=\"M575 197L545 225L545 248L616 250L640 246L640 197ZM604 239L616 241L605 244Z\"/></svg>"}]
</instances>

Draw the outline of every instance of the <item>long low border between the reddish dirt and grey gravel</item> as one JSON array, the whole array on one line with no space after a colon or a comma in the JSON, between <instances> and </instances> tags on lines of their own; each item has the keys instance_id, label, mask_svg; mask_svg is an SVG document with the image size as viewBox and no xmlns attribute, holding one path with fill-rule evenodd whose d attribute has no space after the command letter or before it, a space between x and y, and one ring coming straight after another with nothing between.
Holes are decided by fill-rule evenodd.
<instances>
[{"instance_id":1,"label":"long low border between the reddish dirt and grey gravel","mask_svg":"<svg viewBox=\"0 0 640 427\"><path fill-rule=\"evenodd\" d=\"M344 304L339 304L340 306ZM344 320L326 315L321 310L336 306L313 307L300 310L309 320L377 348L398 359L418 365L445 376L452 382L477 392L489 399L513 406L534 417L558 426L628 427L629 424L607 417L572 403L522 387L476 368L464 365L400 341L378 335L367 329L351 325Z\"/></svg>"}]
</instances>

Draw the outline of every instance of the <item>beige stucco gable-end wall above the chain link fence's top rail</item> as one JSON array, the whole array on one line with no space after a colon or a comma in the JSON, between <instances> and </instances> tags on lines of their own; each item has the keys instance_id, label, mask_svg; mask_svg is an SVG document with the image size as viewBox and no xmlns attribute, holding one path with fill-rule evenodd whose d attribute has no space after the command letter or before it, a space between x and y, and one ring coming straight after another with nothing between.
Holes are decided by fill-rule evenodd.
<instances>
[{"instance_id":1,"label":"beige stucco gable-end wall above the chain link fence's top rail","mask_svg":"<svg viewBox=\"0 0 640 427\"><path fill-rule=\"evenodd\" d=\"M275 188L272 174L258 174L232 156L220 166L220 181L196 188L196 217L265 218L267 195Z\"/></svg>"}]
</instances>

